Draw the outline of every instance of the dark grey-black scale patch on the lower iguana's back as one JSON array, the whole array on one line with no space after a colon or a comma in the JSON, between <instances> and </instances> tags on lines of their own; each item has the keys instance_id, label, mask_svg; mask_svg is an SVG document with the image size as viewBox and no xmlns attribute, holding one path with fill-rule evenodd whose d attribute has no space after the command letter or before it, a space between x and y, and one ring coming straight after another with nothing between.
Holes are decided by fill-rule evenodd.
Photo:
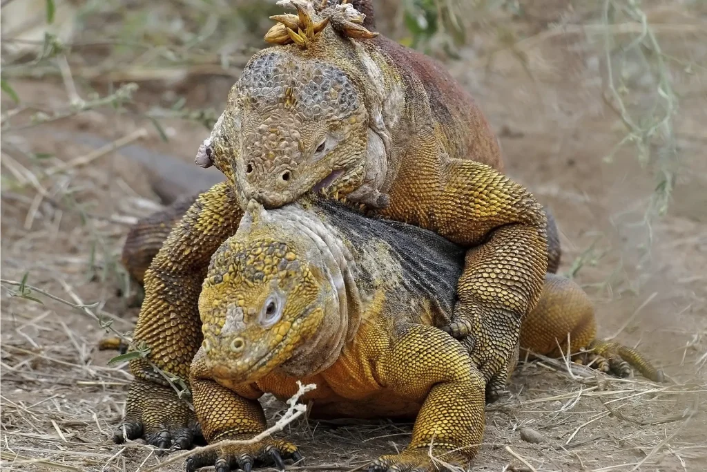
<instances>
[{"instance_id":1,"label":"dark grey-black scale patch on the lower iguana's back","mask_svg":"<svg viewBox=\"0 0 707 472\"><path fill-rule=\"evenodd\" d=\"M404 287L451 315L464 268L464 248L417 226L366 217L340 202L317 198L316 206L354 247L371 241L387 243L402 267Z\"/></svg>"}]
</instances>

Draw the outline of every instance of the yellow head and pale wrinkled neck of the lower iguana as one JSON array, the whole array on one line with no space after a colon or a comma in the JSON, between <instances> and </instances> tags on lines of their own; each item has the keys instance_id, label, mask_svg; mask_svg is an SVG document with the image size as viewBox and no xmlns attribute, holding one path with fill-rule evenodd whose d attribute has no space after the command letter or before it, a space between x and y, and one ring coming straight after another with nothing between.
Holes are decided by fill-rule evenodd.
<instances>
[{"instance_id":1,"label":"yellow head and pale wrinkled neck of the lower iguana","mask_svg":"<svg viewBox=\"0 0 707 472\"><path fill-rule=\"evenodd\" d=\"M217 379L251 382L274 369L302 377L337 359L356 329L357 292L327 231L296 205L266 212L251 202L199 297L202 347Z\"/></svg>"}]
</instances>

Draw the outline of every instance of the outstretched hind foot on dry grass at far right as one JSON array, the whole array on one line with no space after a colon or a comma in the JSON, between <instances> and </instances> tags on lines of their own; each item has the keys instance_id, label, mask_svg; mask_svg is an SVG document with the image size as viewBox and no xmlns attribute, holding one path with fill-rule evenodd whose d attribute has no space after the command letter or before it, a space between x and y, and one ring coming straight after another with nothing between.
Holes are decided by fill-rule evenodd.
<instances>
[{"instance_id":1,"label":"outstretched hind foot on dry grass at far right","mask_svg":"<svg viewBox=\"0 0 707 472\"><path fill-rule=\"evenodd\" d=\"M664 378L662 370L655 369L640 352L619 343L595 340L586 352L575 355L573 361L623 378L630 376L632 369L654 382L662 383Z\"/></svg>"}]
</instances>

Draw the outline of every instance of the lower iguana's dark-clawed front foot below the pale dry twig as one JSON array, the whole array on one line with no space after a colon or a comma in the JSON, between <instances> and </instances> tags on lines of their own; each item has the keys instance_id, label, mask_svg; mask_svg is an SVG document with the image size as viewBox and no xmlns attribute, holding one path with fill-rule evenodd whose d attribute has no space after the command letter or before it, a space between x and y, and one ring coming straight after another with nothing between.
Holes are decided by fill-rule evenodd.
<instances>
[{"instance_id":1,"label":"lower iguana's dark-clawed front foot below the pale dry twig","mask_svg":"<svg viewBox=\"0 0 707 472\"><path fill-rule=\"evenodd\" d=\"M227 438L223 438L227 439ZM237 437L228 439L240 439ZM249 438L243 438L249 439ZM253 466L274 465L278 470L285 470L284 459L302 460L302 454L290 442L277 439L263 439L255 444L223 446L210 451L197 452L187 459L187 472L197 471L201 467L214 466L216 472L245 471Z\"/></svg>"}]
</instances>

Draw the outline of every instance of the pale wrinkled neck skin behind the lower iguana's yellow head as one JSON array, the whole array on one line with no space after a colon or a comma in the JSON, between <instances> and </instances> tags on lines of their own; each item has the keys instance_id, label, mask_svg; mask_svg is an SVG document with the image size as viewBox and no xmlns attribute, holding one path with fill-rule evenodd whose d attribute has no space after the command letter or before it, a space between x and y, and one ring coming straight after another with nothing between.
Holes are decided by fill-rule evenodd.
<instances>
[{"instance_id":1,"label":"pale wrinkled neck skin behind the lower iguana's yellow head","mask_svg":"<svg viewBox=\"0 0 707 472\"><path fill-rule=\"evenodd\" d=\"M296 234L305 248L303 260L319 271L325 316L314 338L301 343L278 368L296 377L315 375L331 367L344 345L353 340L361 323L361 296L356 286L356 265L341 236L314 212L298 204L265 211L260 207L259 224L277 226L286 234ZM250 231L247 212L238 231Z\"/></svg>"}]
</instances>

